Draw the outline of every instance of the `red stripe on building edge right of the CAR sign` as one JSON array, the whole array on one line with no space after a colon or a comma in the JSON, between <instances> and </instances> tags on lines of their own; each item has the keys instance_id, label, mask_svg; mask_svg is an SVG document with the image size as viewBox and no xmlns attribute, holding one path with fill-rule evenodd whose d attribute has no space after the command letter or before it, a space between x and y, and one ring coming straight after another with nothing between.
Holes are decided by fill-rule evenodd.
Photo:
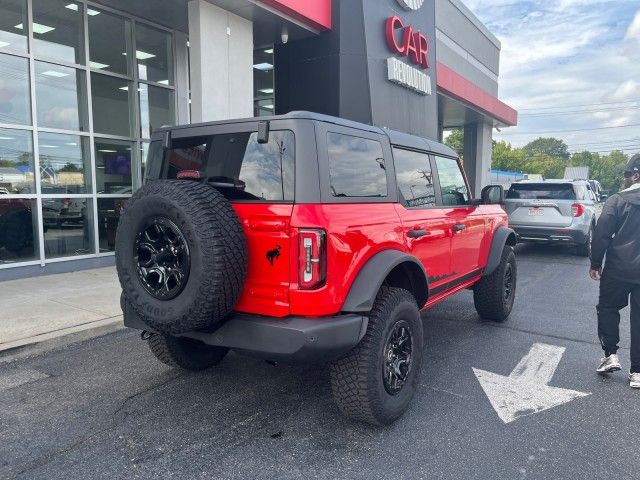
<instances>
[{"instance_id":1,"label":"red stripe on building edge right of the CAR sign","mask_svg":"<svg viewBox=\"0 0 640 480\"><path fill-rule=\"evenodd\" d=\"M513 127L518 124L518 112L509 105L443 63L438 62L436 69L439 92L466 103L505 125Z\"/></svg>"}]
</instances>

